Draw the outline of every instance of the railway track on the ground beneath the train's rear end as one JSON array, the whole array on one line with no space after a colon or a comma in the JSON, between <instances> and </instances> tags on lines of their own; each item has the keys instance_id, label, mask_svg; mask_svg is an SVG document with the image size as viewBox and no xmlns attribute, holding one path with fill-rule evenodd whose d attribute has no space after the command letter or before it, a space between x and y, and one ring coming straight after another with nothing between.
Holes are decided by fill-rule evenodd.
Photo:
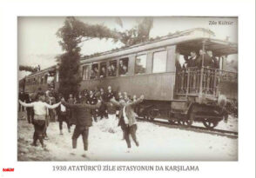
<instances>
[{"instance_id":1,"label":"railway track on the ground beneath the train's rear end","mask_svg":"<svg viewBox=\"0 0 256 178\"><path fill-rule=\"evenodd\" d=\"M138 120L140 122L150 122L150 121L147 121L143 118L138 118ZM206 128L199 127L199 126L187 127L187 126L183 126L183 125L179 125L179 124L175 124L175 123L161 122L161 121L157 121L157 120L154 120L152 123L160 125L160 126L165 126L167 128L172 128L172 129L181 129L181 130L187 130L187 131L194 131L194 132L205 133L205 134L209 134L209 135L220 135L220 136L226 136L226 137L232 138L232 139L238 138L238 132L229 131L229 130L206 129Z\"/></svg>"}]
</instances>

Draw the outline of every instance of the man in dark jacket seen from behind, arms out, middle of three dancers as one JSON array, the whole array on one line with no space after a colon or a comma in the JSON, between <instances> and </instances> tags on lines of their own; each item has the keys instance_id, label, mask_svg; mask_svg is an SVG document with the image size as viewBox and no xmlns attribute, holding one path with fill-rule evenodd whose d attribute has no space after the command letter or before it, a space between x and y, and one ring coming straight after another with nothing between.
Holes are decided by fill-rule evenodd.
<instances>
[{"instance_id":1,"label":"man in dark jacket seen from behind, arms out, middle of three dancers","mask_svg":"<svg viewBox=\"0 0 256 178\"><path fill-rule=\"evenodd\" d=\"M85 154L88 151L88 136L89 136L89 128L92 125L91 120L91 110L92 109L98 109L101 105L101 102L98 101L97 104L87 104L85 100L81 100L81 103L76 104L69 104L64 101L64 99L61 100L61 103L67 107L74 109L74 121L72 121L76 128L74 129L74 133L72 135L72 148L77 148L77 138L79 135L83 136L83 142L84 142L84 151ZM74 155L74 153L71 153ZM86 155L83 155L84 157Z\"/></svg>"}]
</instances>

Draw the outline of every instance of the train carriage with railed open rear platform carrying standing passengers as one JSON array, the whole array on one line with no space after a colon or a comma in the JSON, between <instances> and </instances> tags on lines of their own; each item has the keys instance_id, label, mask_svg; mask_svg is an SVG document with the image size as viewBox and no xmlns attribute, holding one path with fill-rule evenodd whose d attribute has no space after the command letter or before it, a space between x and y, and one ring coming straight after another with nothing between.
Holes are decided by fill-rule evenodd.
<instances>
[{"instance_id":1,"label":"train carriage with railed open rear platform carrying standing passengers","mask_svg":"<svg viewBox=\"0 0 256 178\"><path fill-rule=\"evenodd\" d=\"M184 125L199 121L214 128L228 114L226 102L238 99L238 77L236 72L226 71L226 57L237 54L237 44L213 37L210 30L185 30L152 42L84 57L80 89L111 86L114 91L131 96L143 94L145 102L139 106L138 115L146 119L160 117ZM183 69L185 58L199 49L211 50L219 68ZM51 69L56 69L57 78L57 68ZM57 87L58 79L55 82ZM39 83L33 86L37 88Z\"/></svg>"}]
</instances>

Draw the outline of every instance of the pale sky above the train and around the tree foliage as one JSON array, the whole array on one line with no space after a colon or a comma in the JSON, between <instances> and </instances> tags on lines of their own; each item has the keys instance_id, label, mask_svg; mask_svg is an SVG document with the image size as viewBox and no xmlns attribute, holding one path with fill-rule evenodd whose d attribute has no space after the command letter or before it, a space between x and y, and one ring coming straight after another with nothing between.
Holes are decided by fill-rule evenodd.
<instances>
[{"instance_id":1,"label":"pale sky above the train and around the tree foliage","mask_svg":"<svg viewBox=\"0 0 256 178\"><path fill-rule=\"evenodd\" d=\"M138 24L142 17L126 16L121 17L123 27L116 23L116 17L86 16L77 17L80 21L90 24L104 24L110 29L119 31L130 30ZM18 63L21 65L41 66L41 69L48 68L56 64L55 56L64 53L62 51L56 33L64 25L63 16L20 16L17 24L18 41ZM218 22L230 21L232 25L210 25L210 21ZM150 37L165 36L176 31L189 30L193 28L205 28L212 30L215 37L225 40L229 36L229 41L238 42L238 19L220 17L178 17L159 16L153 17L153 28ZM120 48L123 43L112 43L110 40L92 39L81 43L82 55L91 55L96 52L103 52ZM29 75L29 72L18 71L18 78Z\"/></svg>"}]
</instances>

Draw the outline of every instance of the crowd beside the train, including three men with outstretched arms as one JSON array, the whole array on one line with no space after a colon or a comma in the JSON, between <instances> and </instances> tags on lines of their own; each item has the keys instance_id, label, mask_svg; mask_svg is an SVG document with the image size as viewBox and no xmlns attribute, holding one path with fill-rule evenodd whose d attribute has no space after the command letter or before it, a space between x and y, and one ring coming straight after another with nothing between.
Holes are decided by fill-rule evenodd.
<instances>
[{"instance_id":1,"label":"crowd beside the train, including three men with outstretched arms","mask_svg":"<svg viewBox=\"0 0 256 178\"><path fill-rule=\"evenodd\" d=\"M94 89L81 91L77 97L70 94L68 98L58 94L54 89L43 92L38 89L34 95L19 93L19 111L24 107L27 110L27 120L34 125L32 146L37 146L37 140L45 147L44 140L48 140L47 127L50 121L59 123L59 134L63 135L63 122L66 122L68 131L75 125L72 139L72 148L77 148L77 138L82 135L84 151L88 150L89 128L93 122L107 119L108 131L116 133L121 127L123 139L127 144L127 152L131 149L131 138L139 146L136 136L138 115L135 107L144 100L144 96L129 96L126 92L114 92L111 86L107 90Z\"/></svg>"}]
</instances>

